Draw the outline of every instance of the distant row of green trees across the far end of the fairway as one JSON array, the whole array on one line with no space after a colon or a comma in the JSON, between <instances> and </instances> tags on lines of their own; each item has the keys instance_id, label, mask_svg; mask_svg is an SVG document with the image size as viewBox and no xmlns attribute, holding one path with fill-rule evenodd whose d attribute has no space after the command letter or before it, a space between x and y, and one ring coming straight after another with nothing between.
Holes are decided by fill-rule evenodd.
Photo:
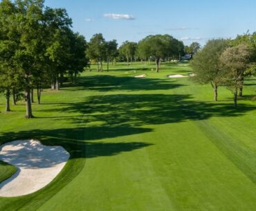
<instances>
[{"instance_id":1,"label":"distant row of green trees across the far end of the fairway","mask_svg":"<svg viewBox=\"0 0 256 211\"><path fill-rule=\"evenodd\" d=\"M159 70L161 61L170 62L172 59L181 59L185 54L195 54L201 48L200 44L193 42L190 46L184 46L182 41L171 35L149 35L137 42L125 41L118 48L116 39L106 41L101 33L91 37L86 56L90 62L95 62L98 71L103 71L102 62L127 62L134 61L156 62L156 72Z\"/></svg>"}]
</instances>

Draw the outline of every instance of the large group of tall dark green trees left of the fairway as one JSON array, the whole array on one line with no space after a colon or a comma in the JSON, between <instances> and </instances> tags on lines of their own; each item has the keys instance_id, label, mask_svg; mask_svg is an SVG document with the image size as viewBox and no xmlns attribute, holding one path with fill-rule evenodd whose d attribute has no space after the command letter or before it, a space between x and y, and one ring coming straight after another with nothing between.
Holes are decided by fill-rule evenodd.
<instances>
[{"instance_id":1,"label":"large group of tall dark green trees left of the fairway","mask_svg":"<svg viewBox=\"0 0 256 211\"><path fill-rule=\"evenodd\" d=\"M26 118L33 118L34 89L40 103L44 86L60 89L64 74L75 82L86 66L86 41L71 30L65 9L44 6L44 0L3 0L0 3L0 91L6 111L19 98Z\"/></svg>"}]
</instances>

